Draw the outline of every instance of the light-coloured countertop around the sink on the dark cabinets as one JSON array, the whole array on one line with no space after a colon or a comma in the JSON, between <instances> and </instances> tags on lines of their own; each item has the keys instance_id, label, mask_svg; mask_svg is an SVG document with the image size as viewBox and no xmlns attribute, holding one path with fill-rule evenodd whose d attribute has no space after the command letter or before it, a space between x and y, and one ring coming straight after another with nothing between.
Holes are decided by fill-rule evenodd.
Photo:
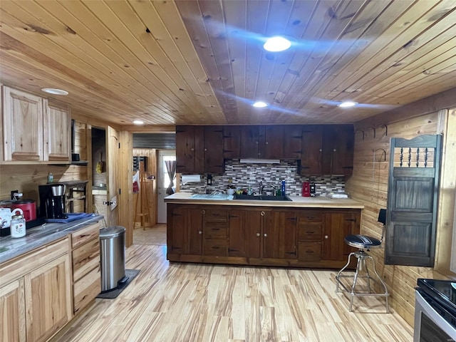
<instances>
[{"instance_id":1,"label":"light-coloured countertop around the sink on the dark cabinets","mask_svg":"<svg viewBox=\"0 0 456 342\"><path fill-rule=\"evenodd\" d=\"M165 197L166 203L187 203L187 204L218 204L218 205L241 205L241 206L263 206L263 207L300 207L300 208L341 208L341 209L363 209L364 204L353 199L333 199L326 196L301 197L289 195L291 201L261 201L251 199L194 199L190 192L176 192Z\"/></svg>"}]
</instances>

